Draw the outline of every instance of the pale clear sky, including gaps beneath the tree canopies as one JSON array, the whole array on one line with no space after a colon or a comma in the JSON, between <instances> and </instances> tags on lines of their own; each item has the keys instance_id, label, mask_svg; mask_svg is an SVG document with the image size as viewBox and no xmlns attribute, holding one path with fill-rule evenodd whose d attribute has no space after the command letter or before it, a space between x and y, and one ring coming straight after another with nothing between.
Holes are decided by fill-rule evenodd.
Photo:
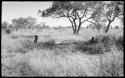
<instances>
[{"instance_id":1,"label":"pale clear sky, including gaps beneath the tree canopies","mask_svg":"<svg viewBox=\"0 0 125 78\"><path fill-rule=\"evenodd\" d=\"M52 6L51 1L41 1L41 2L26 2L26 1L2 1L2 22L7 21L12 23L11 20L19 17L35 17L37 23L45 22L50 26L70 26L71 23L66 18L56 19L56 18L42 18L37 15L38 10L45 10ZM89 23L85 22L82 26L87 26ZM119 20L116 19L113 25L119 25Z\"/></svg>"}]
</instances>

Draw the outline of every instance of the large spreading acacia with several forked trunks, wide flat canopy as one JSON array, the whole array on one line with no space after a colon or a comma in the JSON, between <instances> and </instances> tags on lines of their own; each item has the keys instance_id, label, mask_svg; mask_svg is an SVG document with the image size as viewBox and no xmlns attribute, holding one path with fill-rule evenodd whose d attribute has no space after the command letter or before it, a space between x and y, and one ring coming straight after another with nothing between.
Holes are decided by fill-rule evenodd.
<instances>
[{"instance_id":1,"label":"large spreading acacia with several forked trunks, wide flat canopy","mask_svg":"<svg viewBox=\"0 0 125 78\"><path fill-rule=\"evenodd\" d=\"M90 21L94 15L98 14L99 12L95 12L97 8L97 1L81 1L81 2L53 2L52 7L41 11L39 10L38 13L41 17L48 17L52 16L55 18L66 17L71 22L72 29L74 34L78 34L81 28L81 25L86 22Z\"/></svg>"}]
</instances>

